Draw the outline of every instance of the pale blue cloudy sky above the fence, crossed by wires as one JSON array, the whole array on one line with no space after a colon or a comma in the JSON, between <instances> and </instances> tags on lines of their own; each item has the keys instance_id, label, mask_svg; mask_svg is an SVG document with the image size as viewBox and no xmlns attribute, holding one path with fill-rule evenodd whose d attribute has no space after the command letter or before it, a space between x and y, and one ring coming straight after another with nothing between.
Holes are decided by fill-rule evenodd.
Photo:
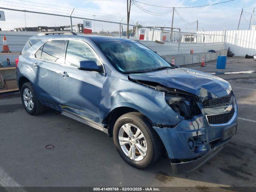
<instances>
[{"instance_id":1,"label":"pale blue cloudy sky above the fence, crossed by wires","mask_svg":"<svg viewBox=\"0 0 256 192\"><path fill-rule=\"evenodd\" d=\"M224 2L227 0L137 0L147 4L168 7L187 7L200 6L204 4L213 4ZM144 9L155 12L164 13L172 10L172 8L160 8L148 6L145 4L138 5ZM48 4L48 5L46 5ZM0 0L0 5L4 7L12 7L17 9L34 10L40 12L51 12L56 14L69 15L72 8L76 8L74 16L84 16L87 18L96 18L100 20L112 20L119 22L123 17L122 22L126 22L126 0ZM67 8L65 8L67 7ZM201 8L177 8L178 13L187 22L194 22L198 20L198 29L204 30L236 30L241 13L244 8L244 14L241 18L240 29L247 30L249 27L250 14L253 7L256 8L256 0L234 0L232 2L206 6ZM85 10L85 11L82 11ZM256 12L252 20L252 24L256 25ZM172 12L163 15L155 16L143 12L136 5L132 4L130 13L131 24L139 22L142 26L171 26ZM196 23L186 24L182 21L177 13L174 13L174 27L188 30L195 30Z\"/></svg>"}]
</instances>

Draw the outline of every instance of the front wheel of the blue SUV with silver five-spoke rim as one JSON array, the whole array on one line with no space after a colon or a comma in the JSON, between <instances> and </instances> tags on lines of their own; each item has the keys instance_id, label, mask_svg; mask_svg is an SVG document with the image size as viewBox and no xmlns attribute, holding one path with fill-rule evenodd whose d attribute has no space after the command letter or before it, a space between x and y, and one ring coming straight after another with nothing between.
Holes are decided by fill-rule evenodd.
<instances>
[{"instance_id":1,"label":"front wheel of the blue SUV with silver five-spoke rim","mask_svg":"<svg viewBox=\"0 0 256 192\"><path fill-rule=\"evenodd\" d=\"M138 129L141 133L136 136ZM130 136L127 134L127 130L131 131L129 132ZM124 114L116 120L113 140L122 159L135 168L142 169L151 166L160 156L158 135L147 118L139 112Z\"/></svg>"}]
</instances>

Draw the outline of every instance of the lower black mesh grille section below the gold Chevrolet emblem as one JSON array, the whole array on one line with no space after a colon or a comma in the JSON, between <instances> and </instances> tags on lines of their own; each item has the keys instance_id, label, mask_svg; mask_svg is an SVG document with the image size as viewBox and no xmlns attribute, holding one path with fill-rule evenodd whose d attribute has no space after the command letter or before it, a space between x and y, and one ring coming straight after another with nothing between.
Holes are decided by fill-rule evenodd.
<instances>
[{"instance_id":1,"label":"lower black mesh grille section below the gold Chevrolet emblem","mask_svg":"<svg viewBox=\"0 0 256 192\"><path fill-rule=\"evenodd\" d=\"M234 113L235 113L235 108L233 107L232 110L228 113L207 115L206 118L210 125L225 124L225 123L228 123L232 119L232 117L234 116Z\"/></svg>"}]
</instances>

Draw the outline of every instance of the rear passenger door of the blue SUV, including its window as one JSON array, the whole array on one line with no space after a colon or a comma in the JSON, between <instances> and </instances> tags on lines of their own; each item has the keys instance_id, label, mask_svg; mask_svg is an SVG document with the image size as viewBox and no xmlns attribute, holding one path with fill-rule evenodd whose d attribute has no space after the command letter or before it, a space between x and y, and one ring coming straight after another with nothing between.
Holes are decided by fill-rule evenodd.
<instances>
[{"instance_id":1,"label":"rear passenger door of the blue SUV, including its window","mask_svg":"<svg viewBox=\"0 0 256 192\"><path fill-rule=\"evenodd\" d=\"M46 42L36 52L32 64L36 72L34 86L39 99L55 109L60 103L58 76L64 64L64 44L65 40Z\"/></svg>"}]
</instances>

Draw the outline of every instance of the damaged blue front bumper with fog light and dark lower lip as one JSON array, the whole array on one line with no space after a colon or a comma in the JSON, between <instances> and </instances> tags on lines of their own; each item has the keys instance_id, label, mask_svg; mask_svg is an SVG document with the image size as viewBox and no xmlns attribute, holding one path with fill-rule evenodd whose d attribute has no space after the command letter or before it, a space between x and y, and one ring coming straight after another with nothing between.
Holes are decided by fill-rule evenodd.
<instances>
[{"instance_id":1,"label":"damaged blue front bumper with fog light and dark lower lip","mask_svg":"<svg viewBox=\"0 0 256 192\"><path fill-rule=\"evenodd\" d=\"M236 134L237 114L229 125L209 126L206 117L182 120L175 128L153 127L162 140L174 173L191 172L213 158ZM191 148L189 141L194 141Z\"/></svg>"}]
</instances>

